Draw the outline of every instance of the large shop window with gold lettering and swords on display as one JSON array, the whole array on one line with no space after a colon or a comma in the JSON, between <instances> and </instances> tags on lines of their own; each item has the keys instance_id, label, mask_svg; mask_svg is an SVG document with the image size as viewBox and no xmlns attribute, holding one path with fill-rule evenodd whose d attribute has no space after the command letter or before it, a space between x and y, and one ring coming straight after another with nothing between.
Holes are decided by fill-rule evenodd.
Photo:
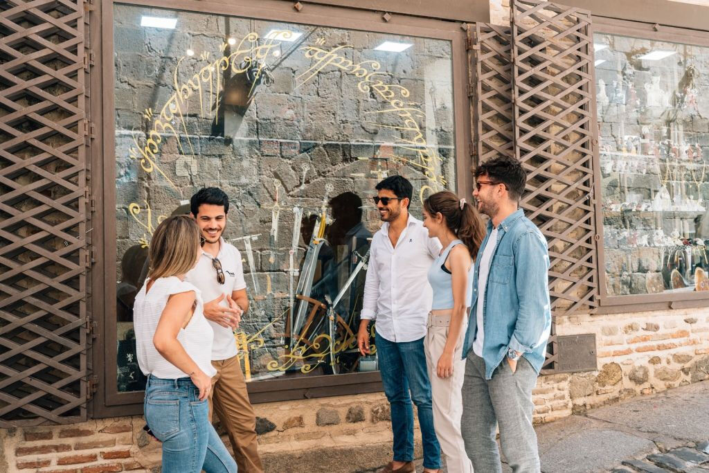
<instances>
[{"instance_id":1,"label":"large shop window with gold lettering and swords on display","mask_svg":"<svg viewBox=\"0 0 709 473\"><path fill-rule=\"evenodd\" d=\"M356 349L371 197L402 174L420 217L425 196L455 190L450 41L125 5L113 17L118 391L145 383L132 306L150 235L204 186L231 201L247 379L376 369Z\"/></svg>"}]
</instances>

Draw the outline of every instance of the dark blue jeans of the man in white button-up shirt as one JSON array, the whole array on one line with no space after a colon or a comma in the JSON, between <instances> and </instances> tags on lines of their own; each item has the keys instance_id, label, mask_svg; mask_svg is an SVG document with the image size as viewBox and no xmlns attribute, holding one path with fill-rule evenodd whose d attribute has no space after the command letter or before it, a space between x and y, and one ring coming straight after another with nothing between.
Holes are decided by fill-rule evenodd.
<instances>
[{"instance_id":1,"label":"dark blue jeans of the man in white button-up shirt","mask_svg":"<svg viewBox=\"0 0 709 473\"><path fill-rule=\"evenodd\" d=\"M426 371L423 338L396 343L376 334L379 372L384 394L391 406L391 430L394 434L393 460L413 460L413 407L418 409L418 424L423 441L423 467L441 466L441 448L433 428L431 383ZM411 391L411 395L409 394Z\"/></svg>"}]
</instances>

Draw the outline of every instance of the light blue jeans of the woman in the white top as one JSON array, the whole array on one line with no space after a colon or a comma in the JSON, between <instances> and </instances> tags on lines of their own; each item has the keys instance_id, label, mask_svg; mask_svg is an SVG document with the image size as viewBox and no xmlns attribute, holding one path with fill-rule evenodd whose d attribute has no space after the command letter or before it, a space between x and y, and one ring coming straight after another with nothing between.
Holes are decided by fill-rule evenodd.
<instances>
[{"instance_id":1,"label":"light blue jeans of the woman in the white top","mask_svg":"<svg viewBox=\"0 0 709 473\"><path fill-rule=\"evenodd\" d=\"M236 473L236 462L209 422L206 399L189 378L147 378L145 422L162 442L163 473Z\"/></svg>"}]
</instances>

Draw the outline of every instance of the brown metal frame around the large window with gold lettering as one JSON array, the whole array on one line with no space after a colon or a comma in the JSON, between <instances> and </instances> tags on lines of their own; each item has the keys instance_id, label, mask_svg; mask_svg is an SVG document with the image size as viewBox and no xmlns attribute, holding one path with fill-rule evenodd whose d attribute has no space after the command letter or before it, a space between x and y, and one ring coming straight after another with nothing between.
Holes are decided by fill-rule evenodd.
<instances>
[{"instance_id":1,"label":"brown metal frame around the large window with gold lettering","mask_svg":"<svg viewBox=\"0 0 709 473\"><path fill-rule=\"evenodd\" d=\"M116 287L112 274L116 272L115 243L116 221L112 218L116 207L115 188L115 112L113 98L113 4L155 7L172 10L186 10L199 13L213 13L240 16L265 21L288 21L332 28L367 30L375 33L414 35L425 38L450 40L452 44L453 104L456 144L456 180L459 194L470 194L472 178L469 172L470 128L469 101L467 98L467 25L460 22L419 18L376 11L324 6L302 5L294 9L290 2L279 0L235 0L203 2L196 0L101 0L97 1L94 14L100 21L94 21L92 28L94 45L99 45L96 54L96 70L92 86L96 82L96 93L91 109L96 111L97 145L91 159L97 176L94 179L94 195L104 196L97 208L97 222L94 227L94 244L101 255L94 271L94 287L104 288L103 293L94 297L94 313L104 314L97 318L99 343L94 345L94 366L99 374L99 388L94 396L91 416L94 418L126 416L142 413L143 391L119 393L116 382L116 339L115 323ZM355 25L356 27L352 28ZM100 29L99 29L100 28ZM99 51L99 48L96 48ZM250 382L248 385L253 403L308 399L323 396L342 396L365 392L381 391L378 372L344 374L338 376L315 376L294 379L273 379Z\"/></svg>"}]
</instances>

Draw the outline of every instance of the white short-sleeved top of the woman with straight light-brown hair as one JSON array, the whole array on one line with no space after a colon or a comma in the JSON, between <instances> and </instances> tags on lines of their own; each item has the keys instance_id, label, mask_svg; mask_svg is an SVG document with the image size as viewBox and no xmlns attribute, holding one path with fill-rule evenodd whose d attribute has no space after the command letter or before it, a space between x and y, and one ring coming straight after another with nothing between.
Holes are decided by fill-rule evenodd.
<instances>
[{"instance_id":1,"label":"white short-sleeved top of the woman with straight light-brown hair","mask_svg":"<svg viewBox=\"0 0 709 473\"><path fill-rule=\"evenodd\" d=\"M133 305L133 327L135 328L135 345L138 351L138 365L146 376L162 379L178 379L189 376L175 365L165 360L152 344L157 322L167 305L167 299L172 294L194 291L196 307L194 314L185 328L177 334L177 341L184 347L187 355L207 375L214 376L216 369L211 363L214 332L203 313L203 301L199 289L189 282L180 281L179 277L161 277L155 279L150 291L145 294L148 279L135 296Z\"/></svg>"}]
</instances>

